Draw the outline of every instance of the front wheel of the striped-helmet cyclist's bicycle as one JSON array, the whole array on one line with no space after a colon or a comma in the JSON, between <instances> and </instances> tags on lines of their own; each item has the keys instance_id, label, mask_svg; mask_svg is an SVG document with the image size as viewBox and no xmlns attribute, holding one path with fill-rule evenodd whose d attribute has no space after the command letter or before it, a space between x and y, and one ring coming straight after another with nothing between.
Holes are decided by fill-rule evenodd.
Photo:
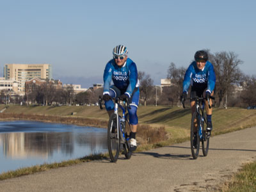
<instances>
[{"instance_id":1,"label":"front wheel of the striped-helmet cyclist's bicycle","mask_svg":"<svg viewBox=\"0 0 256 192\"><path fill-rule=\"evenodd\" d=\"M109 122L108 122L108 152L109 152L109 157L113 163L117 161L119 156L119 151L120 151L120 137L118 137L118 134L117 134L116 114L113 113L110 116Z\"/></svg>"}]
</instances>

